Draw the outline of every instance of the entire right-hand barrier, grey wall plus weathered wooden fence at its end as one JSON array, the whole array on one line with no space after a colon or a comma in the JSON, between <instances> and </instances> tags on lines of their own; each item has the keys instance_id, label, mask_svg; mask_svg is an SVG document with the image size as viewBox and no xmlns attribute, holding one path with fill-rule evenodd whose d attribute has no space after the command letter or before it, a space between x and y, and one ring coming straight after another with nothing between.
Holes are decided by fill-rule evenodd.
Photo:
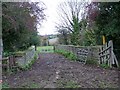
<instances>
[{"instance_id":1,"label":"entire right-hand barrier, grey wall plus weathered wooden fence at its end","mask_svg":"<svg viewBox=\"0 0 120 90\"><path fill-rule=\"evenodd\" d=\"M86 60L95 59L99 64L107 64L112 67L119 67L118 60L113 52L113 42L102 46L74 46L74 45L56 45L54 50L64 50L75 54L79 61L86 63Z\"/></svg>"}]
</instances>

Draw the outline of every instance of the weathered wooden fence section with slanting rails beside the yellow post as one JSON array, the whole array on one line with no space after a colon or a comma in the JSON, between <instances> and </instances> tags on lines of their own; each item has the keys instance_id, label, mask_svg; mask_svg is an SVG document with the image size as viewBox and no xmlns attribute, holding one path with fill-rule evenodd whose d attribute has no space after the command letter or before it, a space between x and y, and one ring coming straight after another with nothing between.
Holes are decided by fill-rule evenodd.
<instances>
[{"instance_id":1,"label":"weathered wooden fence section with slanting rails beside the yellow post","mask_svg":"<svg viewBox=\"0 0 120 90\"><path fill-rule=\"evenodd\" d=\"M108 43L104 44L99 49L99 64L107 64L108 66L112 67L112 65L116 65L119 67L117 58L113 52L113 42L110 40Z\"/></svg>"}]
</instances>

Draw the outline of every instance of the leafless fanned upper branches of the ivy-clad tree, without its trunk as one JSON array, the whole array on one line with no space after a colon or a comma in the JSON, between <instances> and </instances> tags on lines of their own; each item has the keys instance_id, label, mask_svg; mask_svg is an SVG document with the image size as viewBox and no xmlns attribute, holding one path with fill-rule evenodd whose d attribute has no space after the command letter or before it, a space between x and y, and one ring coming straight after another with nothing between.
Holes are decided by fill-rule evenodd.
<instances>
[{"instance_id":1,"label":"leafless fanned upper branches of the ivy-clad tree, without its trunk","mask_svg":"<svg viewBox=\"0 0 120 90\"><path fill-rule=\"evenodd\" d=\"M84 11L85 2L70 0L60 3L58 6L58 15L60 17L58 24L60 27L67 28L70 32L74 32L74 17L78 22L81 21Z\"/></svg>"}]
</instances>

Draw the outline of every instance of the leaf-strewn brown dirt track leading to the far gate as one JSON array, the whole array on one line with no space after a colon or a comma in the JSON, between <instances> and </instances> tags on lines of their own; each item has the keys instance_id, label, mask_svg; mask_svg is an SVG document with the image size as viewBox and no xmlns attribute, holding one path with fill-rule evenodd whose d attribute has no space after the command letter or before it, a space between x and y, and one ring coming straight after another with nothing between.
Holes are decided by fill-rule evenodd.
<instances>
[{"instance_id":1,"label":"leaf-strewn brown dirt track leading to the far gate","mask_svg":"<svg viewBox=\"0 0 120 90\"><path fill-rule=\"evenodd\" d=\"M117 88L118 71L83 65L59 54L43 53L30 70L3 77L3 81L11 88L62 88L69 82L82 88Z\"/></svg>"}]
</instances>

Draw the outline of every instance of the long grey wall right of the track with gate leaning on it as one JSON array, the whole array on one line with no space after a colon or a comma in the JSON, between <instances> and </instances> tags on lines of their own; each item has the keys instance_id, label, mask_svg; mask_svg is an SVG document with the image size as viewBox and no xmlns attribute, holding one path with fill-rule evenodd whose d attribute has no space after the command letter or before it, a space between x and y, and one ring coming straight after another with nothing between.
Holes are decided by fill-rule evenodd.
<instances>
[{"instance_id":1,"label":"long grey wall right of the track with gate leaning on it","mask_svg":"<svg viewBox=\"0 0 120 90\"><path fill-rule=\"evenodd\" d=\"M77 56L78 61L86 63L87 59L98 60L99 46L74 46L74 45L56 45L55 50L64 50L72 52Z\"/></svg>"}]
</instances>

